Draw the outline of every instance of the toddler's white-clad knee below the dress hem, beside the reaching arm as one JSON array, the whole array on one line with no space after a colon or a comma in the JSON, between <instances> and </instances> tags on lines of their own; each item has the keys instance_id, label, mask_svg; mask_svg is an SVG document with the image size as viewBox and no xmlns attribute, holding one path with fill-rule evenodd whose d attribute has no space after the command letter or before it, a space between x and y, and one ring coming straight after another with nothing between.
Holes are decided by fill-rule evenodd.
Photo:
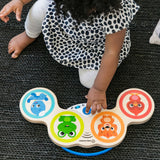
<instances>
[{"instance_id":1,"label":"toddler's white-clad knee below the dress hem, beside the reaching arm","mask_svg":"<svg viewBox=\"0 0 160 160\"><path fill-rule=\"evenodd\" d=\"M91 88L98 74L98 70L79 69L79 80L84 87Z\"/></svg>"}]
</instances>

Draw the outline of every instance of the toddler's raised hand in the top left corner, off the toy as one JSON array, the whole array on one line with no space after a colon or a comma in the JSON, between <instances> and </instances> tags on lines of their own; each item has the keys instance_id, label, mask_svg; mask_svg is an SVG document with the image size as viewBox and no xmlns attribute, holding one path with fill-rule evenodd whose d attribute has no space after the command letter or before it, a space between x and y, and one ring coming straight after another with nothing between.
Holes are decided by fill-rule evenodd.
<instances>
[{"instance_id":1,"label":"toddler's raised hand in the top left corner, off the toy","mask_svg":"<svg viewBox=\"0 0 160 160\"><path fill-rule=\"evenodd\" d=\"M9 21L8 15L11 12L14 12L16 14L17 21L21 21L23 5L24 3L21 0L12 0L11 2L7 3L0 11L0 19L7 23Z\"/></svg>"}]
</instances>

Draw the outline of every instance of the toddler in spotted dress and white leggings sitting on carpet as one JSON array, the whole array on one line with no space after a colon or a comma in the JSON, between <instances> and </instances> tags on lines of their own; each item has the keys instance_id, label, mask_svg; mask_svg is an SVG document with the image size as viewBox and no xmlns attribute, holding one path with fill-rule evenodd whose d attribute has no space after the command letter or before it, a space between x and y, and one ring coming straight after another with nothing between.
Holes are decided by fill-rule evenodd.
<instances>
[{"instance_id":1,"label":"toddler in spotted dress and white leggings sitting on carpet","mask_svg":"<svg viewBox=\"0 0 160 160\"><path fill-rule=\"evenodd\" d=\"M12 0L0 11L7 23L11 12L21 20L23 6L31 0ZM43 33L52 57L78 68L80 82L90 88L86 112L107 108L106 90L117 66L130 50L129 24L138 11L134 0L37 0L30 9L25 31L13 37L8 53L17 58Z\"/></svg>"}]
</instances>

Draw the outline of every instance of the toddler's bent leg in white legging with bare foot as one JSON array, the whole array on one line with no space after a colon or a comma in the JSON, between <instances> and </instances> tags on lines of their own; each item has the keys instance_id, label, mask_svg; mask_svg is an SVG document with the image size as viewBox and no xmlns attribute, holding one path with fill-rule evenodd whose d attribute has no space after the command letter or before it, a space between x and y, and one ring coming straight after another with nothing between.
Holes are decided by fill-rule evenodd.
<instances>
[{"instance_id":1,"label":"toddler's bent leg in white legging with bare foot","mask_svg":"<svg viewBox=\"0 0 160 160\"><path fill-rule=\"evenodd\" d=\"M12 54L12 58L17 58L40 35L49 1L38 0L29 10L25 21L25 31L13 37L8 44L8 53Z\"/></svg>"}]
</instances>

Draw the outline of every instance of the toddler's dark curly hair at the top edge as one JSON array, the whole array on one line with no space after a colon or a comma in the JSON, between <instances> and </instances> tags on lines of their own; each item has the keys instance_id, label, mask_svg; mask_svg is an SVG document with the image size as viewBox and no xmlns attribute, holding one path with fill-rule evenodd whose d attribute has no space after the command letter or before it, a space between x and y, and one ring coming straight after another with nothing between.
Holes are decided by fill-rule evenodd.
<instances>
[{"instance_id":1,"label":"toddler's dark curly hair at the top edge","mask_svg":"<svg viewBox=\"0 0 160 160\"><path fill-rule=\"evenodd\" d=\"M55 3L57 14L67 16L69 11L78 23L85 20L91 21L93 16L101 13L107 15L121 7L121 0L55 0Z\"/></svg>"}]
</instances>

